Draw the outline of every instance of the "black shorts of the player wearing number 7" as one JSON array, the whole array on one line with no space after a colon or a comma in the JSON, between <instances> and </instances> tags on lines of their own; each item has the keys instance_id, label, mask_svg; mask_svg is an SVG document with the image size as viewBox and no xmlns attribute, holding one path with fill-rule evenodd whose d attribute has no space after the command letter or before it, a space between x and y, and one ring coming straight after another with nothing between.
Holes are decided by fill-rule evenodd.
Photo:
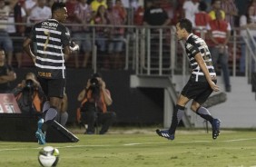
<instances>
[{"instance_id":1,"label":"black shorts of the player wearing number 7","mask_svg":"<svg viewBox=\"0 0 256 167\"><path fill-rule=\"evenodd\" d=\"M64 78L46 79L38 77L38 81L47 97L64 97L65 83Z\"/></svg>"}]
</instances>

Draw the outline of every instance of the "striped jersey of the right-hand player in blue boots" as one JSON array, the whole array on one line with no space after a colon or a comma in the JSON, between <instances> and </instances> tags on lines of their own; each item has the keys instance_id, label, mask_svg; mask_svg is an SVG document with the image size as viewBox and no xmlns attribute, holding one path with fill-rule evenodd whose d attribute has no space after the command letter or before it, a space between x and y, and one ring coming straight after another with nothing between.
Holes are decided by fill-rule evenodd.
<instances>
[{"instance_id":1,"label":"striped jersey of the right-hand player in blue boots","mask_svg":"<svg viewBox=\"0 0 256 167\"><path fill-rule=\"evenodd\" d=\"M209 51L209 48L205 41L198 37L195 34L190 34L186 43L185 43L186 53L189 57L189 61L192 67L192 74L195 75L204 75L202 73L202 69L199 64L197 64L194 56L198 53L201 53L202 59L204 60L207 69L211 76L216 76L213 64L212 64L212 56Z\"/></svg>"}]
</instances>

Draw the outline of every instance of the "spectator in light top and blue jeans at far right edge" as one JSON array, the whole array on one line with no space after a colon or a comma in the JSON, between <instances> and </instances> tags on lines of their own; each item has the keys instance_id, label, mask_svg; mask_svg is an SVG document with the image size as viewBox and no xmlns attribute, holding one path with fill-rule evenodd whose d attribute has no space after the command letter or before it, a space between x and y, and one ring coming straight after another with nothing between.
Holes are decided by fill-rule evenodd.
<instances>
[{"instance_id":1,"label":"spectator in light top and blue jeans at far right edge","mask_svg":"<svg viewBox=\"0 0 256 167\"><path fill-rule=\"evenodd\" d=\"M245 73L245 57L246 57L246 44L244 40L249 40L250 37L248 36L245 29L250 31L251 36L256 40L256 15L254 15L255 7L250 5L247 9L246 15L241 15L240 17L240 27L241 27L241 37L242 37L242 44L241 44L241 58L240 58L240 73ZM255 46L253 45L252 41L249 40L250 47L252 52L255 53ZM252 69L253 69L254 61L252 60Z\"/></svg>"}]
</instances>

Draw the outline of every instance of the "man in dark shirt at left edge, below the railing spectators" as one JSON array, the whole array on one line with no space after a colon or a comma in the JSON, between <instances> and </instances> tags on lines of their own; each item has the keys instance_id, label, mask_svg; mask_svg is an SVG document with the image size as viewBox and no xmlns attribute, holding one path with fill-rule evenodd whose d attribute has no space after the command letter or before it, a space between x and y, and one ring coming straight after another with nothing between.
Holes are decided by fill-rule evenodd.
<instances>
[{"instance_id":1,"label":"man in dark shirt at left edge, below the railing spectators","mask_svg":"<svg viewBox=\"0 0 256 167\"><path fill-rule=\"evenodd\" d=\"M11 82L15 81L16 74L9 64L5 64L5 51L0 48L0 93L11 92Z\"/></svg>"}]
</instances>

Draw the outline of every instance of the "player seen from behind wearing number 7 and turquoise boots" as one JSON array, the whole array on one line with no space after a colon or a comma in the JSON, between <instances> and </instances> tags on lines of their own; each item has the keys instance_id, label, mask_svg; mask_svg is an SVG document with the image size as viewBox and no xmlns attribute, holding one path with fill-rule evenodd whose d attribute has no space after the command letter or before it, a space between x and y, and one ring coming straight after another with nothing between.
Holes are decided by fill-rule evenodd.
<instances>
[{"instance_id":1,"label":"player seen from behind wearing number 7 and turquoise boots","mask_svg":"<svg viewBox=\"0 0 256 167\"><path fill-rule=\"evenodd\" d=\"M65 4L55 2L52 5L52 18L35 24L24 42L25 52L33 59L38 81L49 100L44 103L43 118L39 120L35 133L39 144L45 143L43 132L46 131L47 125L54 121L64 97L64 60L72 51L79 49L77 44L71 44L69 30L62 25L66 17ZM32 43L36 53L31 50Z\"/></svg>"}]
</instances>

